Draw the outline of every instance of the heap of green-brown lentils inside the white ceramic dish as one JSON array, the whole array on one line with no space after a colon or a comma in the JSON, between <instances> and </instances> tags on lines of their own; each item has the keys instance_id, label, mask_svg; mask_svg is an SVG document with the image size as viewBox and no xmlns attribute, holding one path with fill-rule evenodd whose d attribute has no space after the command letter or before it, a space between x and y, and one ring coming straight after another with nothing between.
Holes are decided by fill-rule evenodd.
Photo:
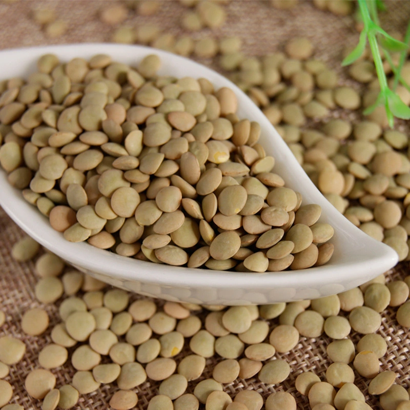
<instances>
[{"instance_id":1,"label":"heap of green-brown lentils inside the white ceramic dish","mask_svg":"<svg viewBox=\"0 0 410 410\"><path fill-rule=\"evenodd\" d=\"M229 88L99 54L3 81L0 165L71 242L190 268L265 272L329 261L334 230L273 171Z\"/></svg>"}]
</instances>

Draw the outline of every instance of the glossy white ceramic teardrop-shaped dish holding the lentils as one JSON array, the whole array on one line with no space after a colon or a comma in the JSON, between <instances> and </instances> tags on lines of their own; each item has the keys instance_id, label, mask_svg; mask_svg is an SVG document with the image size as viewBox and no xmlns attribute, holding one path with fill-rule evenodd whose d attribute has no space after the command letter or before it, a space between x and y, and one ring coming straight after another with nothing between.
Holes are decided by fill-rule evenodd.
<instances>
[{"instance_id":1,"label":"glossy white ceramic teardrop-shaped dish holding the lentils","mask_svg":"<svg viewBox=\"0 0 410 410\"><path fill-rule=\"evenodd\" d=\"M206 77L216 89L227 86L236 92L238 115L259 122L262 129L260 142L267 153L276 158L275 172L285 179L287 186L302 194L304 203L320 204L320 220L330 222L335 228L332 239L335 253L331 261L308 270L252 274L171 267L118 256L87 243L66 241L62 234L50 227L46 217L8 184L5 172L0 171L0 205L23 230L79 270L114 286L148 296L204 304L264 304L318 298L358 286L397 263L396 252L365 235L327 202L268 119L244 93L228 79L194 61L140 46L75 44L34 47L1 51L0 79L27 76L35 71L37 58L45 53L55 53L61 61L107 53L114 60L136 65L142 57L153 52L162 60L160 74Z\"/></svg>"}]
</instances>

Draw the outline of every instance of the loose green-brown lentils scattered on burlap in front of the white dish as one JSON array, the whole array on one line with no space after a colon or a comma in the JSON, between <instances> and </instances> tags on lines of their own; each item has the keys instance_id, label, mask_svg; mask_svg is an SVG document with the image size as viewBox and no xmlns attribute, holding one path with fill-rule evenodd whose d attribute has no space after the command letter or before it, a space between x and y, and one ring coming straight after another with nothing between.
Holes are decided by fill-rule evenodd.
<instances>
[{"instance_id":1,"label":"loose green-brown lentils scattered on burlap in front of the white dish","mask_svg":"<svg viewBox=\"0 0 410 410\"><path fill-rule=\"evenodd\" d=\"M200 306L112 288L39 248L28 236L12 248L23 265L34 260L37 302L19 323L0 310L2 410L23 409L7 404L13 387L3 379L14 372L23 372L25 390L42 410L81 405L104 385L115 410L296 410L296 399L312 410L371 410L365 399L374 403L375 396L383 410L409 408L409 392L394 368L380 365L388 345L376 332L387 308L397 309L398 323L410 327L410 276L386 283L380 275L316 300ZM50 320L51 304L58 319ZM12 335L9 329L16 327ZM26 365L26 344L17 334L26 335L30 350L41 346L35 368ZM321 355L331 362L325 374L291 374L292 351L324 335L328 343ZM57 384L60 372L66 384ZM289 385L289 378L290 392L281 385ZM232 390L233 383L248 387ZM252 383L264 387L256 391ZM153 393L149 401L138 402L147 389Z\"/></svg>"}]
</instances>

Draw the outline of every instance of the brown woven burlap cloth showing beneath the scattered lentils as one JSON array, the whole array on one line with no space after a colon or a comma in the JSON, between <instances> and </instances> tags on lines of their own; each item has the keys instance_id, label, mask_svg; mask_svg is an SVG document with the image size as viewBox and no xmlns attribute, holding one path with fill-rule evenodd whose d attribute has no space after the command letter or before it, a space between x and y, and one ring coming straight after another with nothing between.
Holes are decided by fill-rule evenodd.
<instances>
[{"instance_id":1,"label":"brown woven burlap cloth showing beneath the scattered lentils","mask_svg":"<svg viewBox=\"0 0 410 410\"><path fill-rule=\"evenodd\" d=\"M37 46L45 44L68 44L80 42L109 42L113 28L103 24L98 19L101 9L115 2L111 1L3 1L0 3L0 49ZM404 32L410 17L410 2L387 1L387 7L391 10L388 20L384 22L387 31ZM57 16L68 24L67 33L57 39L50 39L30 18L34 8L54 9ZM176 1L162 2L159 12L154 16L141 17L130 13L126 24L138 25L141 23L158 23L161 27L174 34L181 33L178 26L183 7ZM324 59L330 66L340 69L340 56L343 48L354 45L357 42L357 31L351 16L340 17L331 13L325 13L316 9L312 3L300 1L291 10L278 10L269 2L249 0L232 0L227 6L227 23L215 31L202 30L193 35L194 38L201 36L223 37L238 35L243 38L243 52L248 55L263 55L281 48L287 39L293 36L307 36L315 44L315 56ZM202 60L202 63L211 65L213 61ZM7 64L2 61L1 64ZM348 81L346 79L346 81ZM404 126L406 127L406 126ZM1 195L1 193L0 193ZM6 323L0 329L0 336L13 335L21 338L27 345L27 352L23 360L11 366L10 375L6 378L13 388L12 402L23 405L26 409L39 409L40 402L28 396L24 389L24 380L31 370L38 367L38 352L47 343L51 342L50 330L59 322L58 305L43 306L50 315L49 330L39 337L27 337L20 327L22 314L29 308L38 306L34 297L34 263L17 263L11 256L12 245L23 236L16 225L8 216L0 210L0 309L6 313ZM387 280L392 278L404 278L408 275L408 262L396 267L387 275ZM137 298L132 296L132 300ZM158 301L160 304L161 301ZM401 327L395 320L397 309L388 308L382 313L382 325L379 333L388 344L387 354L380 360L382 370L392 370L397 373L397 383L405 388L410 387L410 331ZM275 321L272 321L272 326ZM352 333L352 340L357 342L359 335ZM265 385L258 379L237 379L235 382L224 386L226 392L232 397L242 389L255 389L267 398L275 391L288 391L296 398L298 408L308 409L309 403L306 397L301 396L295 389L295 378L302 372L313 371L322 381L325 380L326 368L331 361L326 355L326 346L331 340L325 336L318 339L306 339L301 337L299 344L288 354L278 354L277 357L286 359L292 368L290 377L280 385ZM188 349L181 352L176 360L189 354ZM213 366L220 358L207 360L207 367L202 378L211 377ZM69 362L64 367L57 368L53 373L57 377L57 387L70 383L75 370ZM200 380L201 380L200 379ZM355 383L367 392L368 380L356 374ZM190 382L188 392L193 392L196 382ZM149 400L158 394L158 383L146 382L135 391L138 394L137 408L146 409ZM103 385L94 393L81 396L75 408L81 409L105 409L109 408L109 400L116 391L115 383ZM372 408L381 408L377 397L366 396L367 403Z\"/></svg>"}]
</instances>

